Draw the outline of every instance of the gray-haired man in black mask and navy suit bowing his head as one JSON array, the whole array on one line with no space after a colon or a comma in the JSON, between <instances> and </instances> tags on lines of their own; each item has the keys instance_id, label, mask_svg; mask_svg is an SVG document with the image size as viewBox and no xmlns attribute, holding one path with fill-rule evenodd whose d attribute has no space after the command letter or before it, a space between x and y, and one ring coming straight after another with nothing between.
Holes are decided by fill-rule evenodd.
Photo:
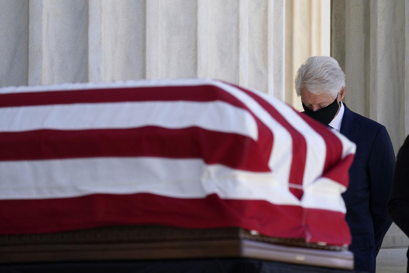
<instances>
[{"instance_id":1,"label":"gray-haired man in black mask and navy suit bowing his head","mask_svg":"<svg viewBox=\"0 0 409 273\"><path fill-rule=\"evenodd\" d=\"M351 229L355 270L375 273L375 257L391 226L387 203L395 153L385 126L354 113L342 102L345 75L328 56L310 57L295 78L305 114L355 142L349 186L342 194Z\"/></svg>"}]
</instances>

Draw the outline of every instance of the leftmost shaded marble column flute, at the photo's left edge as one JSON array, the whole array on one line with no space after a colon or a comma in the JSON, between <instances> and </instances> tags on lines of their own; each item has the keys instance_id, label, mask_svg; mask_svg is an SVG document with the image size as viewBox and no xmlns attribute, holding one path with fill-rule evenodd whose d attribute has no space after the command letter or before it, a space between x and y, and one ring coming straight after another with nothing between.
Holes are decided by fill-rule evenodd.
<instances>
[{"instance_id":1,"label":"leftmost shaded marble column flute, at the photo's left edge","mask_svg":"<svg viewBox=\"0 0 409 273\"><path fill-rule=\"evenodd\" d=\"M27 85L28 0L0 0L0 86Z\"/></svg>"}]
</instances>

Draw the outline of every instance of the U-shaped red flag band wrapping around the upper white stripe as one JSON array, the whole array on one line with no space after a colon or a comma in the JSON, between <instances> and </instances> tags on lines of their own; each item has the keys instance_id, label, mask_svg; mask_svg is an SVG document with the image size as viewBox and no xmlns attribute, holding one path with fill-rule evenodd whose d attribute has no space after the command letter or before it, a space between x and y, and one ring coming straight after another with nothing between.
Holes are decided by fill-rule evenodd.
<instances>
[{"instance_id":1,"label":"U-shaped red flag band wrapping around the upper white stripe","mask_svg":"<svg viewBox=\"0 0 409 273\"><path fill-rule=\"evenodd\" d=\"M172 130L145 127L145 129L124 130L4 132L0 133L0 150L2 150L0 160L89 156L158 156L170 158L204 156L205 161L209 164L220 163L238 169L270 171L265 167L273 141L270 129L240 100L222 88L212 85L0 94L0 107L176 100L199 102L219 100L244 108L256 120L258 126L257 142L254 143L250 139L233 134L226 137L226 133L211 132L196 127ZM129 135L127 135L128 133ZM159 134L160 137L156 134ZM234 143L235 141L238 142ZM254 151L252 151L253 149Z\"/></svg>"}]
</instances>

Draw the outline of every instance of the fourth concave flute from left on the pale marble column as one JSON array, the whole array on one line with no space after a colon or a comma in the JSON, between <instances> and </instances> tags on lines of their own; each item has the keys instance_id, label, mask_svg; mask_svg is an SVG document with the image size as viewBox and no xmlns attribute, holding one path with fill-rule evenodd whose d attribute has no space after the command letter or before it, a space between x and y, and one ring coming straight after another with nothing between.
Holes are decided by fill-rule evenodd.
<instances>
[{"instance_id":1,"label":"fourth concave flute from left on the pale marble column","mask_svg":"<svg viewBox=\"0 0 409 273\"><path fill-rule=\"evenodd\" d=\"M197 77L198 1L146 1L146 78Z\"/></svg>"}]
</instances>

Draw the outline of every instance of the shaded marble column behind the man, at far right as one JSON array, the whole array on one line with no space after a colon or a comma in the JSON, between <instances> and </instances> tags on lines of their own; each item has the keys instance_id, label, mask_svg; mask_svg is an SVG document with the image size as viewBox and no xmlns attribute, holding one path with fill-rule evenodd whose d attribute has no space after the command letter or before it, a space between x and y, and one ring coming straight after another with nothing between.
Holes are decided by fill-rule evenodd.
<instances>
[{"instance_id":1,"label":"shaded marble column behind the man, at far right","mask_svg":"<svg viewBox=\"0 0 409 273\"><path fill-rule=\"evenodd\" d=\"M332 0L331 5L331 54L345 72L344 102L383 124L397 153L409 134L409 1ZM377 258L379 272L406 268L402 257L408 244L393 224ZM392 267L382 269L386 264Z\"/></svg>"}]
</instances>

